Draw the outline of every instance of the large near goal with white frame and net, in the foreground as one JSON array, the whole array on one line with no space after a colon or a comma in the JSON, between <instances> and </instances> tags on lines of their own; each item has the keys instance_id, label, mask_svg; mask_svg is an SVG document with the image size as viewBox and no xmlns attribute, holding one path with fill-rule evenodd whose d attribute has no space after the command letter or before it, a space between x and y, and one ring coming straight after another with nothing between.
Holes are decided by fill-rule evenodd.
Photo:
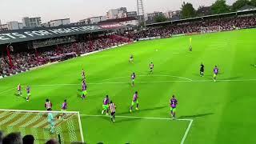
<instances>
[{"instance_id":1,"label":"large near goal with white frame and net, in the foreground","mask_svg":"<svg viewBox=\"0 0 256 144\"><path fill-rule=\"evenodd\" d=\"M54 133L51 133L48 115L54 116ZM55 138L60 143L84 142L79 112L40 110L0 110L0 130L6 134L20 132L34 136L35 144Z\"/></svg>"}]
</instances>

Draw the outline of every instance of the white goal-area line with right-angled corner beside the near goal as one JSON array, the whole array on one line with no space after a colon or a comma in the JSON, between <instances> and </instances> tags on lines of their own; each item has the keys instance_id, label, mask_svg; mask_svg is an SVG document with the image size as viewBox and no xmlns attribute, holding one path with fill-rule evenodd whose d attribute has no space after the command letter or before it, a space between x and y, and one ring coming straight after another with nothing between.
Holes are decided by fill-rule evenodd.
<instances>
[{"instance_id":1,"label":"white goal-area line with right-angled corner beside the near goal","mask_svg":"<svg viewBox=\"0 0 256 144\"><path fill-rule=\"evenodd\" d=\"M107 115L91 115L91 114L80 114L82 117L110 117L110 116L107 116ZM172 120L172 118L156 118L156 117L133 117L133 116L115 116L116 118L140 118L140 119L156 119L156 120ZM183 135L182 137L182 142L181 144L184 144L184 142L186 141L186 137L187 137L187 134L189 134L190 132L190 128L192 126L192 123L193 123L193 119L186 119L186 118L181 118L181 119L175 119L173 121L188 121L190 122L189 123L189 126L187 126L186 128L186 131L185 131L185 134Z\"/></svg>"}]
</instances>

